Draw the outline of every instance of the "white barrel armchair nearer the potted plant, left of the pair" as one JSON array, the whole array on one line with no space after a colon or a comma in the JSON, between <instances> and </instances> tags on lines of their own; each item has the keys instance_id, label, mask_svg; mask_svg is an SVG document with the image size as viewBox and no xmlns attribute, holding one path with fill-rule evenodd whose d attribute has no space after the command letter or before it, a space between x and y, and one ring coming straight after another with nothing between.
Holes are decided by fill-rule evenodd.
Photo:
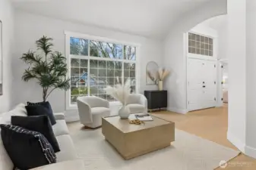
<instances>
[{"instance_id":1,"label":"white barrel armchair nearer the potted plant, left of the pair","mask_svg":"<svg viewBox=\"0 0 256 170\"><path fill-rule=\"evenodd\" d=\"M77 97L80 122L87 127L102 125L102 117L110 116L109 101L96 96Z\"/></svg>"}]
</instances>

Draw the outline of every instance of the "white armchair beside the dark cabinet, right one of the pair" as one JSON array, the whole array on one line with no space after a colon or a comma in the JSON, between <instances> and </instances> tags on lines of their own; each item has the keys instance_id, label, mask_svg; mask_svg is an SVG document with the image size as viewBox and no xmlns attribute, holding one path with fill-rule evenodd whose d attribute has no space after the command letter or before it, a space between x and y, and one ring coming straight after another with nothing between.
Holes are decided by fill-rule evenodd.
<instances>
[{"instance_id":1,"label":"white armchair beside the dark cabinet, right one of the pair","mask_svg":"<svg viewBox=\"0 0 256 170\"><path fill-rule=\"evenodd\" d=\"M126 106L131 113L147 113L147 98L143 94L129 94Z\"/></svg>"}]
</instances>

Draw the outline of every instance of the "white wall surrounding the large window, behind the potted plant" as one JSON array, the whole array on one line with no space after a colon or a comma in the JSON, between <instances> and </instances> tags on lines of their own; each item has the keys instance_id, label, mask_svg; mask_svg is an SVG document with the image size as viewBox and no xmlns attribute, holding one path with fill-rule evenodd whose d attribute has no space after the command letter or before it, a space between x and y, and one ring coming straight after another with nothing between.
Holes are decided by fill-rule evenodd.
<instances>
[{"instance_id":1,"label":"white wall surrounding the large window, behind the potted plant","mask_svg":"<svg viewBox=\"0 0 256 170\"><path fill-rule=\"evenodd\" d=\"M92 36L102 36L109 39L116 39L124 42L134 42L141 44L140 63L140 92L144 93L146 89L156 89L154 85L146 85L146 65L150 60L156 61L160 66L163 65L163 42L146 39L141 36L132 36L121 32L100 29L96 27L78 25L62 20L55 20L48 17L41 17L35 14L28 14L22 11L15 12L15 43L17 48L14 55L14 104L19 102L40 101L42 100L42 89L35 82L23 82L22 73L27 65L19 57L28 49L35 49L34 42L41 36L49 36L54 39L55 49L65 54L65 34L64 31L81 32ZM54 91L49 101L53 110L62 112L65 110L65 92Z\"/></svg>"}]
</instances>

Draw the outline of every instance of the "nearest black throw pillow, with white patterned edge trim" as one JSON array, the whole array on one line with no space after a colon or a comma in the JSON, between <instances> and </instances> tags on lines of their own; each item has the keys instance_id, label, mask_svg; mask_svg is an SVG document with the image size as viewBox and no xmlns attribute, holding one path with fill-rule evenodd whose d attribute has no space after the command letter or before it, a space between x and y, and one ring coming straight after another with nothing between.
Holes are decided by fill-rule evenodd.
<instances>
[{"instance_id":1,"label":"nearest black throw pillow, with white patterned edge trim","mask_svg":"<svg viewBox=\"0 0 256 170\"><path fill-rule=\"evenodd\" d=\"M37 131L16 125L0 125L5 150L16 168L27 170L56 162L51 144Z\"/></svg>"}]
</instances>

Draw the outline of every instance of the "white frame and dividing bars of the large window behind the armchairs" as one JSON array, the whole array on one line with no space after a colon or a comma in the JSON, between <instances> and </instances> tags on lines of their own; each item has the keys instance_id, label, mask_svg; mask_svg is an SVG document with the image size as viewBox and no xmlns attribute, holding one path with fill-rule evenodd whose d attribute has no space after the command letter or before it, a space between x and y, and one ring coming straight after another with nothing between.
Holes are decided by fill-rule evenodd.
<instances>
[{"instance_id":1,"label":"white frame and dividing bars of the large window behind the armchairs","mask_svg":"<svg viewBox=\"0 0 256 170\"><path fill-rule=\"evenodd\" d=\"M90 57L90 45L88 45L88 56L81 56L81 55L74 55L70 54L70 38L78 38L78 39L88 39L88 40L93 40L93 41L100 41L100 42L109 42L109 43L115 43L122 45L131 45L136 48L136 57L135 60L125 60L125 59L110 59L110 58L104 58L104 57ZM140 80L138 79L138 75L140 73L140 67L138 66L139 63L139 54L140 54L140 47L141 45L137 43L131 43L131 42L123 42L115 39L109 39L105 37L100 37L100 36L90 36L87 34L83 33L77 33L77 32L68 32L65 31L65 56L67 59L67 66L68 66L68 75L67 77L71 77L71 58L77 58L77 59L84 59L88 60L87 63L87 68L88 68L88 74L90 75L90 60L111 60L111 61L122 61L122 68L124 68L124 62L125 63L135 63L135 79L136 79L136 93L139 91L139 82ZM124 54L123 54L124 57ZM89 93L90 93L90 81L87 80L88 82L88 87L89 87ZM122 71L122 82L124 82L124 72ZM71 88L68 89L65 93L65 98L66 98L66 110L76 110L77 109L77 104L71 104ZM111 101L109 102L110 105L119 105L120 103L118 101Z\"/></svg>"}]
</instances>

